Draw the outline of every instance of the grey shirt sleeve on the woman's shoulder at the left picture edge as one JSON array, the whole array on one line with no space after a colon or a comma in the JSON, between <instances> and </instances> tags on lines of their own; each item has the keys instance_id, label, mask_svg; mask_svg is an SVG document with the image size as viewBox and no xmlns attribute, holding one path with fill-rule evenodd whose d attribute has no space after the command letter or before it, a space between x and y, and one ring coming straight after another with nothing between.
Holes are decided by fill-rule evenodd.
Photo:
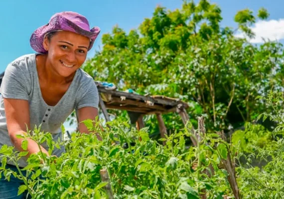
<instances>
[{"instance_id":1,"label":"grey shirt sleeve on the woman's shoulder at the left picture edge","mask_svg":"<svg viewBox=\"0 0 284 199\"><path fill-rule=\"evenodd\" d=\"M17 65L9 64L5 69L0 87L0 94L4 98L29 100L28 80L23 69Z\"/></svg>"}]
</instances>

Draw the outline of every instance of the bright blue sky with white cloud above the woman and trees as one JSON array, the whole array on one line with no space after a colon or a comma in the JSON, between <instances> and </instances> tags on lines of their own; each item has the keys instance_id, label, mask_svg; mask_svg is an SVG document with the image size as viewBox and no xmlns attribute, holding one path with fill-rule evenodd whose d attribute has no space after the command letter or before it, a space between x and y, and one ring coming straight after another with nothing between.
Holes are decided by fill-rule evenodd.
<instances>
[{"instance_id":1,"label":"bright blue sky with white cloud above the woman and trees","mask_svg":"<svg viewBox=\"0 0 284 199\"><path fill-rule=\"evenodd\" d=\"M197 0L195 1L197 2ZM256 38L284 39L284 0L211 0L222 10L222 26L236 28L234 15L249 8L257 13L265 7L270 13L266 21L258 21L253 27ZM157 5L173 10L181 8L182 0L0 0L0 73L17 57L34 53L29 44L31 33L48 22L60 11L75 11L87 17L90 25L99 26L101 33L88 53L91 58L100 49L101 37L119 25L126 32L138 28L144 18L150 18ZM236 36L242 37L242 34Z\"/></svg>"}]
</instances>

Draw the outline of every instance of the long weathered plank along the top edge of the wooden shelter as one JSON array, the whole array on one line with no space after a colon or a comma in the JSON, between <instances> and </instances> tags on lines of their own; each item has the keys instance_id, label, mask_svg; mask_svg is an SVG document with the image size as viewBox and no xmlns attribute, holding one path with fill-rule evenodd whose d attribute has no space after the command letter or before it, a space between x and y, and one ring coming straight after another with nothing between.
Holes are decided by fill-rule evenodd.
<instances>
[{"instance_id":1,"label":"long weathered plank along the top edge of the wooden shelter","mask_svg":"<svg viewBox=\"0 0 284 199\"><path fill-rule=\"evenodd\" d=\"M131 98L131 99L135 99L135 100L142 100L142 101L151 101L153 103L160 103L160 104L163 104L163 105L175 106L178 103L180 103L180 101L154 99L154 98L151 98L151 97L141 96L141 95L132 94L132 93L126 93L126 92L121 92L121 91L116 91L116 90L107 90L103 87L98 87L98 91L101 92L101 93L111 94L112 96L118 96L118 97L124 96L126 98Z\"/></svg>"}]
</instances>

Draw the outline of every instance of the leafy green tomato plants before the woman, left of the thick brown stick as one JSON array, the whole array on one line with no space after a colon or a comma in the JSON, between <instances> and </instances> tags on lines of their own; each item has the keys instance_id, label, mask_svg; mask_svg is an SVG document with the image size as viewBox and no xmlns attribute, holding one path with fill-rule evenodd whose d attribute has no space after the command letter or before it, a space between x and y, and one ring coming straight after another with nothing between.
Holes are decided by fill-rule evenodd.
<instances>
[{"instance_id":1,"label":"leafy green tomato plants before the woman, left of the thick brown stick","mask_svg":"<svg viewBox=\"0 0 284 199\"><path fill-rule=\"evenodd\" d=\"M107 131L100 128L99 122L93 126L86 120L85 124L103 140L99 141L94 133L73 133L70 140L55 142L50 133L41 132L39 127L25 139L33 139L38 144L49 143L50 154L54 147L65 146L66 153L60 157L47 157L40 152L33 154L28 158L29 164L23 169L18 168L19 174L16 174L5 169L5 162L12 161L16 165L16 160L24 154L13 152L13 147L4 145L0 149L4 160L0 171L6 178L14 175L22 179L24 185L19 188L19 194L27 190L34 199L106 198L106 183L100 177L103 168L109 173L117 199L198 199L204 189L209 199L231 194L226 172L218 169L220 159L226 157L226 143L216 135L204 138L205 141L210 139L210 145L200 144L187 149L184 138L190 134L186 129L167 137L166 145L162 146L148 137L146 129L137 131L128 122L113 120L108 123L111 129ZM124 147L124 143L130 147ZM215 144L218 149L213 149ZM202 172L209 165L215 169L210 178Z\"/></svg>"}]
</instances>

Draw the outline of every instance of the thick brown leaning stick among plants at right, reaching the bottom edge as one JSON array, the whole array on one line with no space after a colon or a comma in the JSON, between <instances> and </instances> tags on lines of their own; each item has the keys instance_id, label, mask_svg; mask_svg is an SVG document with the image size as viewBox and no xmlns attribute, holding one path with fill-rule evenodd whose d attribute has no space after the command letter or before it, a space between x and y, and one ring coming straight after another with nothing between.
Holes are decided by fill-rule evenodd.
<instances>
[{"instance_id":1,"label":"thick brown leaning stick among plants at right, reaching the bottom edge","mask_svg":"<svg viewBox=\"0 0 284 199\"><path fill-rule=\"evenodd\" d=\"M220 137L224 141L226 141L226 137L225 137L225 134L224 134L223 131L217 132L217 133L220 135ZM226 160L222 159L221 161L224 164L225 169L227 170L227 172L229 174L228 175L228 181L229 181L229 184L232 188L235 199L241 199L240 191L239 191L238 184L237 184L235 164L233 164L233 162L232 162L231 152L230 152L229 149L228 149L227 159Z\"/></svg>"}]
</instances>

